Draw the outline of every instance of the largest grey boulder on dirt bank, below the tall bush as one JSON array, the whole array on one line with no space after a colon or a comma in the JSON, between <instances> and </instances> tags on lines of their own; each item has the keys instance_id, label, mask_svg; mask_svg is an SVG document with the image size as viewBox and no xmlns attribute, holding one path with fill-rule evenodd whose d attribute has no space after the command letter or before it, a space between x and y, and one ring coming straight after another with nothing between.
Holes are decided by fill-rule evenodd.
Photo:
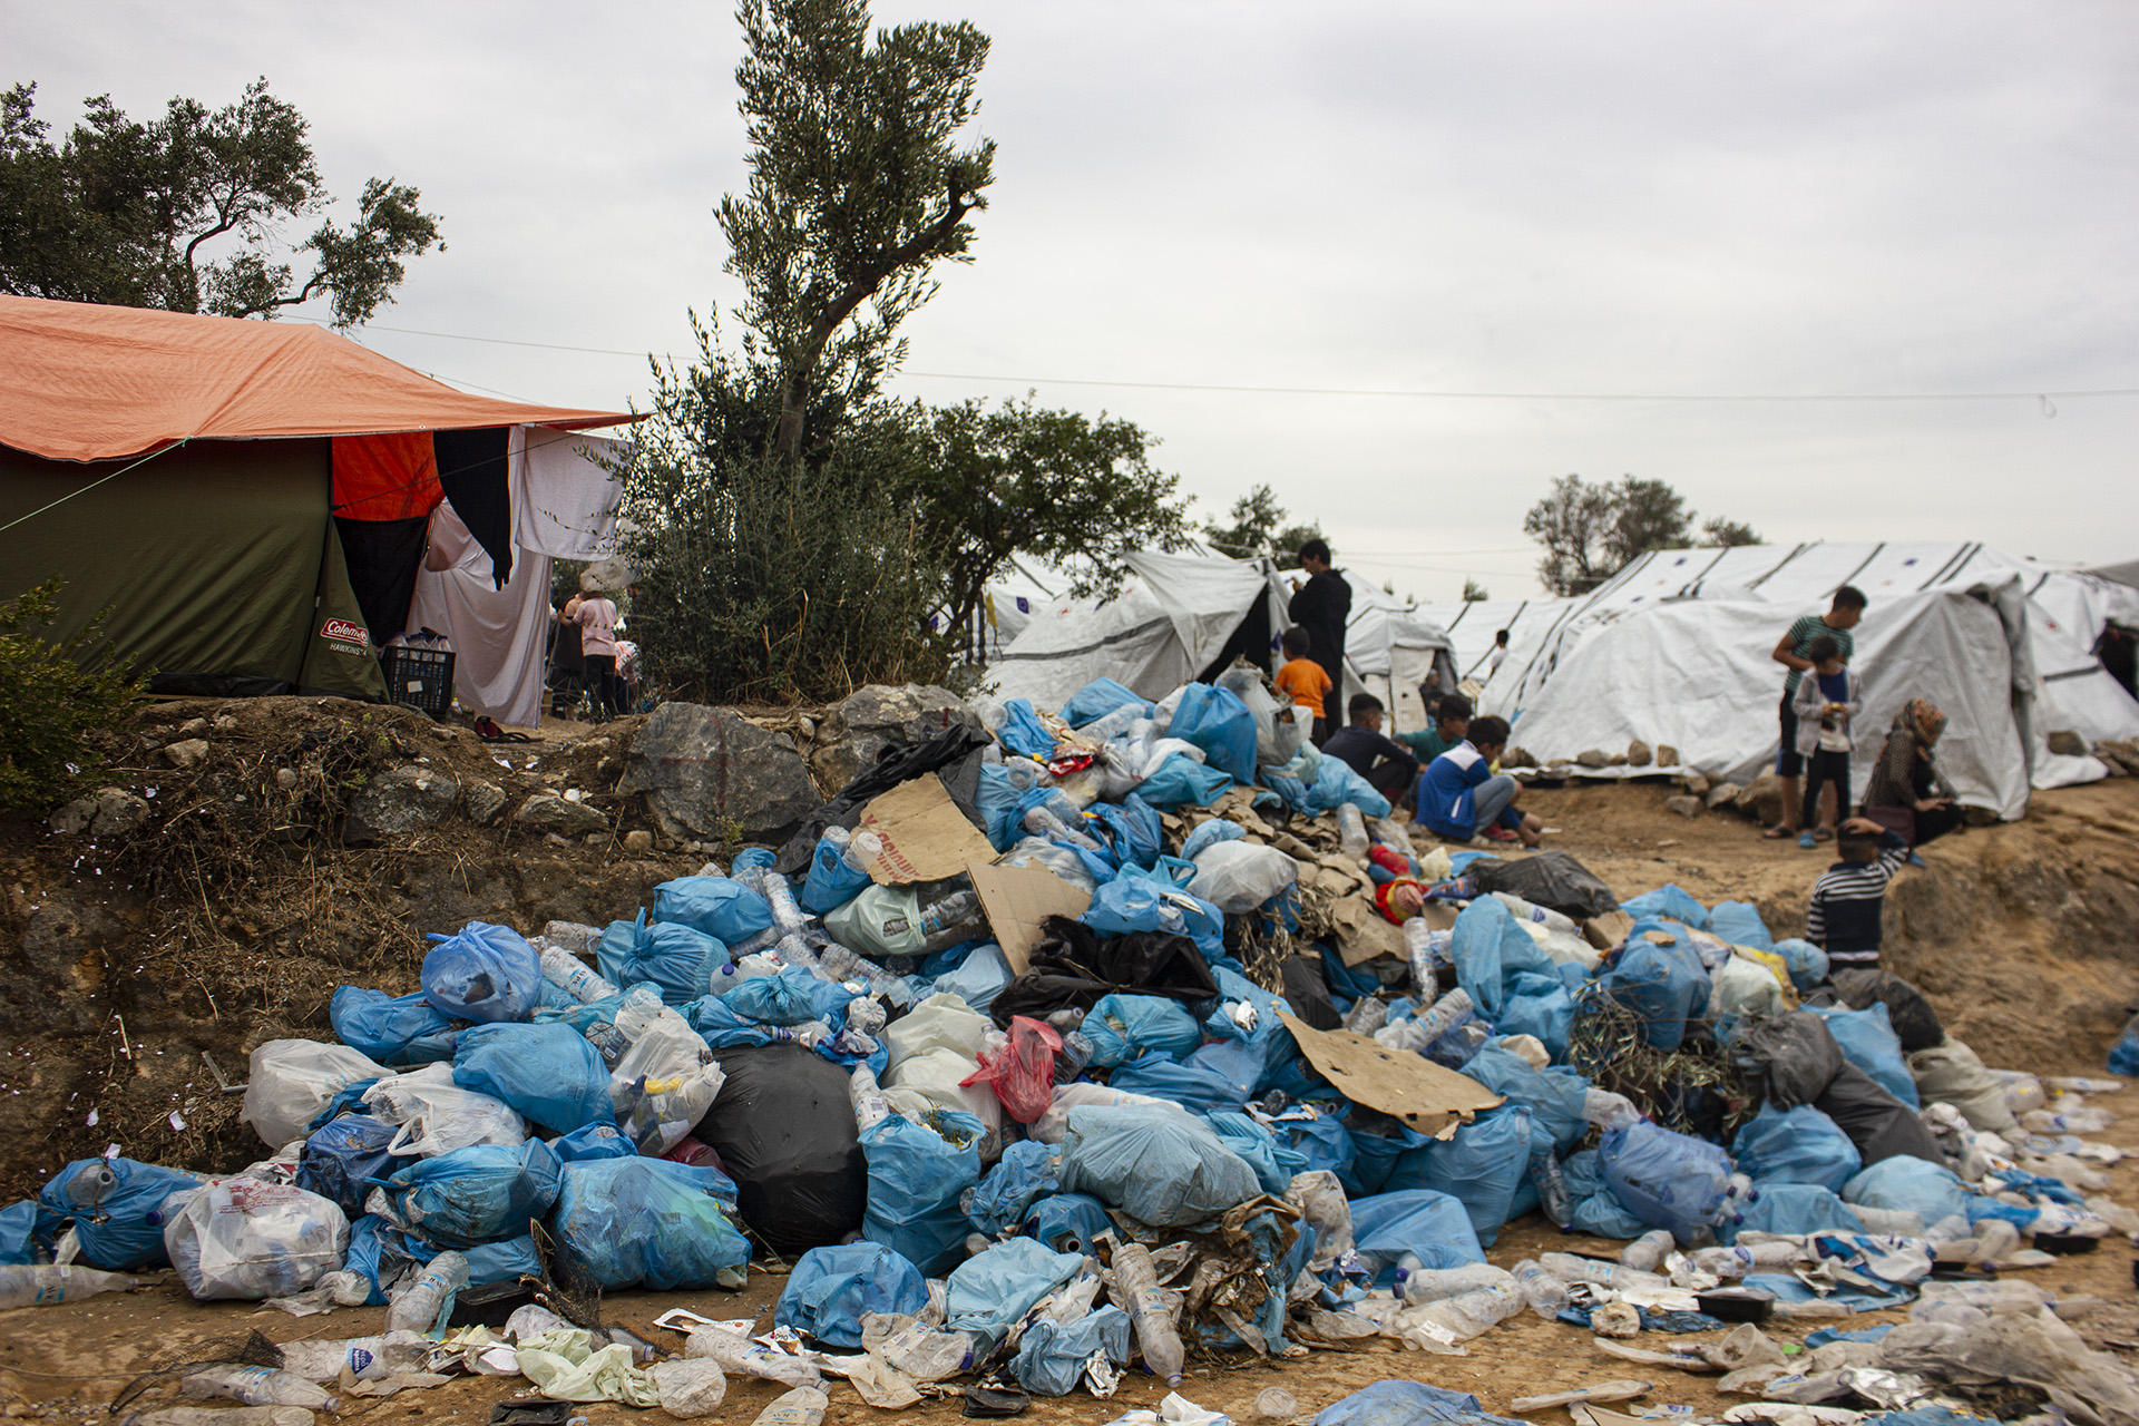
<instances>
[{"instance_id":1,"label":"largest grey boulder on dirt bank, below the tall bush","mask_svg":"<svg viewBox=\"0 0 2139 1426\"><path fill-rule=\"evenodd\" d=\"M821 802L791 738L704 703L657 708L616 791L646 793L663 834L708 842L783 842Z\"/></svg>"}]
</instances>

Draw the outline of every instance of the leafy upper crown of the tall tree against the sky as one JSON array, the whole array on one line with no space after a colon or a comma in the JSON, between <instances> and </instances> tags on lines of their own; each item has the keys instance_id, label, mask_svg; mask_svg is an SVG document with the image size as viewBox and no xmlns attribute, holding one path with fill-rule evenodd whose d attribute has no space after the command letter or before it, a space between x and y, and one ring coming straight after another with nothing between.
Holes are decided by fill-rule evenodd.
<instances>
[{"instance_id":1,"label":"leafy upper crown of the tall tree against the sky","mask_svg":"<svg viewBox=\"0 0 2139 1426\"><path fill-rule=\"evenodd\" d=\"M744 353L781 396L774 451L802 455L819 391L868 400L905 357L894 331L971 261L995 143L956 148L988 36L971 24L868 32L866 0L744 0L736 66L751 184L721 201L742 278Z\"/></svg>"}]
</instances>

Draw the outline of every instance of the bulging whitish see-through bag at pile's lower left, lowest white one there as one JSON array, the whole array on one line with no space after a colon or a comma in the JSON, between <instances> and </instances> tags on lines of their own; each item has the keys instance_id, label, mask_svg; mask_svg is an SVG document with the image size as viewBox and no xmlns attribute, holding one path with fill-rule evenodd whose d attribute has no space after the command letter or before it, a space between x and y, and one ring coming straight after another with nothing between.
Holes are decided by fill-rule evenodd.
<instances>
[{"instance_id":1,"label":"bulging whitish see-through bag at pile's lower left, lowest white one there","mask_svg":"<svg viewBox=\"0 0 2139 1426\"><path fill-rule=\"evenodd\" d=\"M342 1266L349 1219L295 1184L216 1178L163 1225L163 1251L201 1302L291 1298Z\"/></svg>"}]
</instances>

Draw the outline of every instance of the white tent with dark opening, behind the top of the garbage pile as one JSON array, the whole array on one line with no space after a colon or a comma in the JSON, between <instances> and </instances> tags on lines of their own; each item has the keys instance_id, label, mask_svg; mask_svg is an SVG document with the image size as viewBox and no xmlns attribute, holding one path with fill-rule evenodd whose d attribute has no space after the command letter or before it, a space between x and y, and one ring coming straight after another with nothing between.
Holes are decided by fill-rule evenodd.
<instances>
[{"instance_id":1,"label":"white tent with dark opening, behind the top of the garbage pile","mask_svg":"<svg viewBox=\"0 0 2139 1426\"><path fill-rule=\"evenodd\" d=\"M988 665L997 697L1055 710L1095 678L1147 699L1232 661L1268 661L1283 601L1266 562L1224 556L1132 552L1114 599L1055 599ZM1249 648L1253 646L1253 648Z\"/></svg>"}]
</instances>

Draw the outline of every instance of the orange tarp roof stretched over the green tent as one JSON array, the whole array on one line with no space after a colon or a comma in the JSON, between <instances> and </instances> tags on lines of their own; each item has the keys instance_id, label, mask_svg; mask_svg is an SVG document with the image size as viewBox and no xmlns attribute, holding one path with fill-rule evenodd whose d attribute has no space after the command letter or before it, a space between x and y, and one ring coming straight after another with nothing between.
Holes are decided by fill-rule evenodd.
<instances>
[{"instance_id":1,"label":"orange tarp roof stretched over the green tent","mask_svg":"<svg viewBox=\"0 0 2139 1426\"><path fill-rule=\"evenodd\" d=\"M118 460L175 440L637 417L468 396L310 323L0 297L0 445Z\"/></svg>"}]
</instances>

